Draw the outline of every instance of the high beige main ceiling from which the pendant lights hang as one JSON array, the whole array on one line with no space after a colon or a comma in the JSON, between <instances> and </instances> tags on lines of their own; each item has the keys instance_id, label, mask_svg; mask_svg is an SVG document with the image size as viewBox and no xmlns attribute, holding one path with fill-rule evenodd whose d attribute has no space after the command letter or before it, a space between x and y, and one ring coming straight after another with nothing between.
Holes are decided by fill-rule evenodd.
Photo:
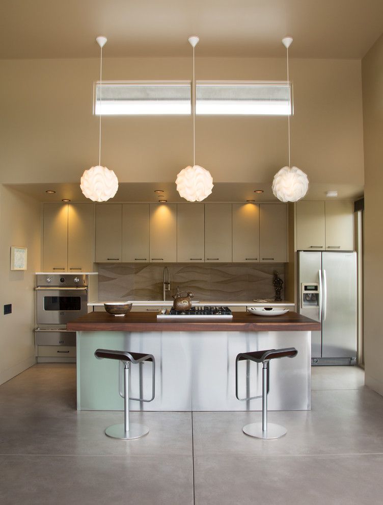
<instances>
[{"instance_id":1,"label":"high beige main ceiling from which the pendant lights hang","mask_svg":"<svg viewBox=\"0 0 383 505\"><path fill-rule=\"evenodd\" d=\"M383 32L383 0L1 0L0 58L187 56L362 58Z\"/></svg>"}]
</instances>

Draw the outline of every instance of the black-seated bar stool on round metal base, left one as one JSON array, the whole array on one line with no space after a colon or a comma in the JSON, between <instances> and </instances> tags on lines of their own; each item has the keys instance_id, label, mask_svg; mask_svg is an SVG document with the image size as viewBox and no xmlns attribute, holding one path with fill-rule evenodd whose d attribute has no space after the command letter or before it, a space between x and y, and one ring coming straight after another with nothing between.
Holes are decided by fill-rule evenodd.
<instances>
[{"instance_id":1,"label":"black-seated bar stool on round metal base, left one","mask_svg":"<svg viewBox=\"0 0 383 505\"><path fill-rule=\"evenodd\" d=\"M143 437L149 433L149 428L144 424L129 423L129 399L139 401L152 401L154 399L155 391L155 361L154 356L151 354L142 354L141 352L127 352L111 349L97 349L94 353L95 357L99 360L105 358L108 360L119 360L124 365L124 392L121 391L120 386L120 369L119 369L119 393L124 398L124 423L113 424L108 426L105 430L105 435L108 437L118 438L120 440L132 440L135 438ZM130 363L144 363L146 361L152 362L152 397L150 399L144 398L129 398L129 370Z\"/></svg>"}]
</instances>

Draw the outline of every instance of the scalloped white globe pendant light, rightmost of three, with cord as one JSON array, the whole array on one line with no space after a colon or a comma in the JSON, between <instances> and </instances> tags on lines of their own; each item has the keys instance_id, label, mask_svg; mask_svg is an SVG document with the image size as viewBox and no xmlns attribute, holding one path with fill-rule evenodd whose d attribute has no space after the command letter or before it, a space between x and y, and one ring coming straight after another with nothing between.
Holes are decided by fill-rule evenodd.
<instances>
[{"instance_id":1,"label":"scalloped white globe pendant light, rightmost of three, with cord","mask_svg":"<svg viewBox=\"0 0 383 505\"><path fill-rule=\"evenodd\" d=\"M292 37L282 39L286 47L287 83L289 84L289 47ZM291 93L290 93L291 104ZM290 114L287 116L289 132L289 166L281 168L272 181L272 192L281 201L297 201L303 198L309 189L309 179L305 172L297 167L291 167L290 162Z\"/></svg>"}]
</instances>

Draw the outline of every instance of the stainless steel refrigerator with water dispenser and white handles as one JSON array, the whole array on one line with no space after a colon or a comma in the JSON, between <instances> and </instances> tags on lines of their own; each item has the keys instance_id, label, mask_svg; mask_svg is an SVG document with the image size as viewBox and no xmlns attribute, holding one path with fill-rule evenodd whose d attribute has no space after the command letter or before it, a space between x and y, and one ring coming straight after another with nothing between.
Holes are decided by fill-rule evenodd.
<instances>
[{"instance_id":1,"label":"stainless steel refrigerator with water dispenser and white handles","mask_svg":"<svg viewBox=\"0 0 383 505\"><path fill-rule=\"evenodd\" d=\"M298 312L321 322L312 365L351 365L357 357L357 253L298 251Z\"/></svg>"}]
</instances>

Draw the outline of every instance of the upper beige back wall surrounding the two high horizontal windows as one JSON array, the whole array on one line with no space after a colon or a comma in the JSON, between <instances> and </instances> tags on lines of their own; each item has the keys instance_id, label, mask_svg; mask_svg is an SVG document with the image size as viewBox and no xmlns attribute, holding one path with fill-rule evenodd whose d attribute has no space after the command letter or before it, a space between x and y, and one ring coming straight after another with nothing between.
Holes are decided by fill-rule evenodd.
<instances>
[{"instance_id":1,"label":"upper beige back wall surrounding the two high horizontal windows","mask_svg":"<svg viewBox=\"0 0 383 505\"><path fill-rule=\"evenodd\" d=\"M360 60L292 59L292 162L311 182L363 184ZM98 59L0 61L0 182L76 182L98 162ZM190 58L105 58L106 80L190 79ZM197 58L197 79L285 80L286 61ZM170 182L192 161L189 116L103 119L120 182ZM196 162L215 182L269 182L287 164L287 119L197 117Z\"/></svg>"}]
</instances>

